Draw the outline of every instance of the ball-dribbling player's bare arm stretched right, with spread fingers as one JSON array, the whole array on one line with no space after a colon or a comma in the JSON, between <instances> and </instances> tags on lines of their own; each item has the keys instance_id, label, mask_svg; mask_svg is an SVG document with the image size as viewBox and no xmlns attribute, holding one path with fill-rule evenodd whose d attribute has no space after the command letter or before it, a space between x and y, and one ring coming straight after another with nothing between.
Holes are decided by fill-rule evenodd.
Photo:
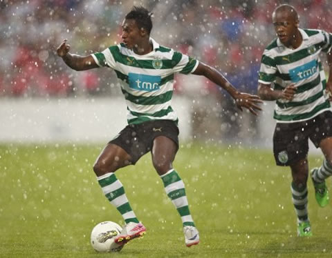
<instances>
[{"instance_id":1,"label":"ball-dribbling player's bare arm stretched right, with spread fingers","mask_svg":"<svg viewBox=\"0 0 332 258\"><path fill-rule=\"evenodd\" d=\"M248 110L254 115L257 115L257 110L261 110L261 108L257 105L262 103L258 96L239 92L225 77L223 77L223 75L221 75L220 72L211 66L199 62L199 66L197 66L196 70L192 74L203 75L226 90L235 100L235 103L237 103L237 107L240 110L242 110L242 108L248 108Z\"/></svg>"}]
</instances>

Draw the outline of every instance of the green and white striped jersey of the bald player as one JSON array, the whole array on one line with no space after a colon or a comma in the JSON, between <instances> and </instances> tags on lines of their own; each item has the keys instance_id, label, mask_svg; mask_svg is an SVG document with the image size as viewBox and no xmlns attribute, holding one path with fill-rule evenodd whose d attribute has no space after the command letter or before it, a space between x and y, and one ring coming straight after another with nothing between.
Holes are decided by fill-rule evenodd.
<instances>
[{"instance_id":1,"label":"green and white striped jersey of the bald player","mask_svg":"<svg viewBox=\"0 0 332 258\"><path fill-rule=\"evenodd\" d=\"M297 87L294 99L278 99L274 118L280 123L305 121L331 110L325 92L326 79L319 54L332 48L332 34L323 30L302 30L299 48L286 48L274 39L264 50L259 83L283 90L291 83Z\"/></svg>"}]
</instances>

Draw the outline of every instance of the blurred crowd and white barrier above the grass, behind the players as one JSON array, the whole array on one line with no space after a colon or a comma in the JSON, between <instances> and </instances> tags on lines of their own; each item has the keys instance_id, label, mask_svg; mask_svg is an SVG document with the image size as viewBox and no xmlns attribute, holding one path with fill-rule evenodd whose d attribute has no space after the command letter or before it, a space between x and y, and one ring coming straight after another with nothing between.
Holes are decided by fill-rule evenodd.
<instances>
[{"instance_id":1,"label":"blurred crowd and white barrier above the grass, behind the players","mask_svg":"<svg viewBox=\"0 0 332 258\"><path fill-rule=\"evenodd\" d=\"M133 4L152 10L151 37L160 44L214 66L235 87L255 93L279 3L297 8L301 27L332 31L332 8L324 0L1 1L0 141L107 141L116 135L126 110L115 73L75 72L55 50L63 39L82 55L119 43L122 18ZM182 139L270 148L274 103L266 103L258 118L237 112L225 91L196 76L178 75L174 95Z\"/></svg>"}]
</instances>

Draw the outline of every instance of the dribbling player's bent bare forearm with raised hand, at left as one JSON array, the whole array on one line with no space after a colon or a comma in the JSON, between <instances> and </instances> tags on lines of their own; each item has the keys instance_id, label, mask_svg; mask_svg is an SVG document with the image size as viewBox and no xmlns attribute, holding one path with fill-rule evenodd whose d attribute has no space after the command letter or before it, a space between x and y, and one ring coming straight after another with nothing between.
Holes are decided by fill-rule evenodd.
<instances>
[{"instance_id":1,"label":"dribbling player's bent bare forearm with raised hand, at left","mask_svg":"<svg viewBox=\"0 0 332 258\"><path fill-rule=\"evenodd\" d=\"M64 41L62 41L60 46L57 48L57 55L62 57L66 65L70 68L82 71L99 67L91 55L82 57L78 54L71 54L69 53L70 49L71 46L67 44L67 39L64 39Z\"/></svg>"}]
</instances>

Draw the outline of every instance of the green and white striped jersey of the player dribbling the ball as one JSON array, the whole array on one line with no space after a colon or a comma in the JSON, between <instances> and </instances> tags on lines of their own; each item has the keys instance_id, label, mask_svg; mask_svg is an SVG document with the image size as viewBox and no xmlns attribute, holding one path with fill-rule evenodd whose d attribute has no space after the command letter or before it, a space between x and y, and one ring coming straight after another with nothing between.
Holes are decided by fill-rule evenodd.
<instances>
[{"instance_id":1,"label":"green and white striped jersey of the player dribbling the ball","mask_svg":"<svg viewBox=\"0 0 332 258\"><path fill-rule=\"evenodd\" d=\"M98 66L112 68L120 81L127 102L129 124L167 119L178 122L172 109L174 74L189 74L199 61L150 39L153 50L148 54L135 54L123 43L92 54Z\"/></svg>"}]
</instances>

